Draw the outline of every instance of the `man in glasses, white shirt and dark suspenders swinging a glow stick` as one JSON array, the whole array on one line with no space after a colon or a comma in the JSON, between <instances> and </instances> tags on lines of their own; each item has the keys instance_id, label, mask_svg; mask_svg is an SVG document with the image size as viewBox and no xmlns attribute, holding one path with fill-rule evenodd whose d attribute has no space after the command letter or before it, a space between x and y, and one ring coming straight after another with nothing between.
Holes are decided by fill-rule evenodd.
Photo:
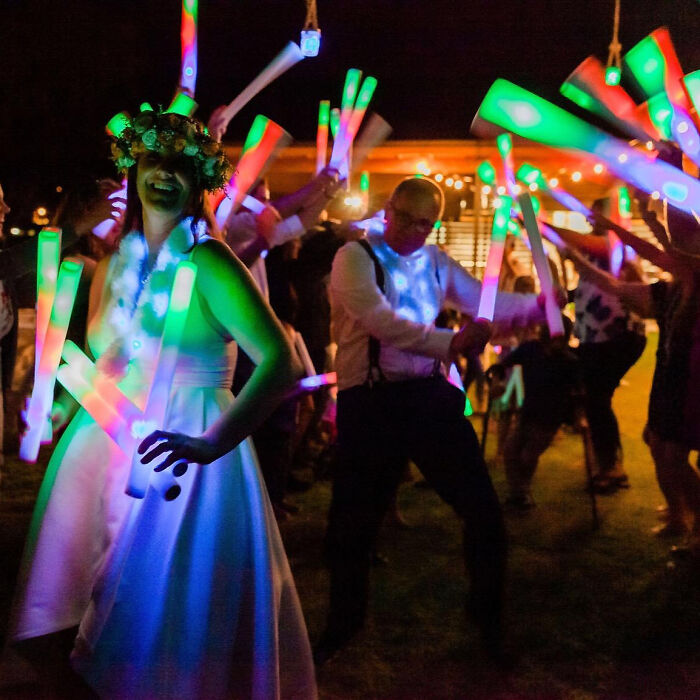
<instances>
[{"instance_id":1,"label":"man in glasses, white shirt and dark suspenders swinging a glow stick","mask_svg":"<svg viewBox=\"0 0 700 700\"><path fill-rule=\"evenodd\" d=\"M409 459L464 523L467 613L485 651L502 659L501 509L464 417L464 394L445 379L458 355L483 350L490 324L468 321L457 333L435 327L443 305L476 317L481 288L446 253L425 245L443 203L433 181L403 180L387 204L384 232L346 244L333 262L338 460L325 542L330 610L314 650L317 665L362 627L370 555ZM534 294L499 294L496 316L512 324L544 319Z\"/></svg>"}]
</instances>

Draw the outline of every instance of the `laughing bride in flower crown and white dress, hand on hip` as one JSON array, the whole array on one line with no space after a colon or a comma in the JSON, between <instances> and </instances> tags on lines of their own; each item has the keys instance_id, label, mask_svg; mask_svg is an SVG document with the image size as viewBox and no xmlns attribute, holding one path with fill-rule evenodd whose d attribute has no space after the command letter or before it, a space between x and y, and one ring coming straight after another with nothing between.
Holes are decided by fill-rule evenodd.
<instances>
[{"instance_id":1,"label":"laughing bride in flower crown and white dress, hand on hip","mask_svg":"<svg viewBox=\"0 0 700 700\"><path fill-rule=\"evenodd\" d=\"M73 665L101 697L313 698L303 616L245 441L300 367L244 266L202 225L227 160L201 123L151 110L112 153L128 172L124 236L95 272L88 344L143 405L176 267L196 265L165 425L134 457L177 463L181 493L165 500L152 478L145 498L125 494L131 459L80 410L42 485L11 638L31 649L75 637ZM235 401L234 342L256 364Z\"/></svg>"}]
</instances>

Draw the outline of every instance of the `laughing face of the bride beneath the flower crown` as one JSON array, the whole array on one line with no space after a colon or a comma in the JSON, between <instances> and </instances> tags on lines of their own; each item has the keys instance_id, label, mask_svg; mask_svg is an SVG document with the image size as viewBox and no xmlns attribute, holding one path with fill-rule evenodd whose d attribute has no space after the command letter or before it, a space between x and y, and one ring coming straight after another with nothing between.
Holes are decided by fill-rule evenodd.
<instances>
[{"instance_id":1,"label":"laughing face of the bride beneath the flower crown","mask_svg":"<svg viewBox=\"0 0 700 700\"><path fill-rule=\"evenodd\" d=\"M192 194L192 177L187 160L147 153L139 158L136 189L144 210L172 216L184 215Z\"/></svg>"}]
</instances>

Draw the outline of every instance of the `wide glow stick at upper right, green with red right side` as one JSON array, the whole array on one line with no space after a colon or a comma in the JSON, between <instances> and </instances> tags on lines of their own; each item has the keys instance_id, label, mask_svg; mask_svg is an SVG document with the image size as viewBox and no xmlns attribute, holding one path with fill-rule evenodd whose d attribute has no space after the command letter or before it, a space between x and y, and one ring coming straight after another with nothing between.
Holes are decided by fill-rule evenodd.
<instances>
[{"instance_id":1,"label":"wide glow stick at upper right, green with red right side","mask_svg":"<svg viewBox=\"0 0 700 700\"><path fill-rule=\"evenodd\" d=\"M654 30L635 44L623 61L645 97L665 93L674 106L688 110L688 96L681 83L683 69L666 27Z\"/></svg>"}]
</instances>

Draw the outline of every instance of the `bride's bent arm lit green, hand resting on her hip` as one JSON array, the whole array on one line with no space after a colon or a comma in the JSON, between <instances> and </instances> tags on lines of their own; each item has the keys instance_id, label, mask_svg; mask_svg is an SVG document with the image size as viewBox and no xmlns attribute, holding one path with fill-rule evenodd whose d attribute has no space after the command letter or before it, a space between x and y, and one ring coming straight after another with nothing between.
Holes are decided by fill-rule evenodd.
<instances>
[{"instance_id":1,"label":"bride's bent arm lit green, hand resting on her hip","mask_svg":"<svg viewBox=\"0 0 700 700\"><path fill-rule=\"evenodd\" d=\"M207 241L195 249L193 260L197 293L256 367L236 400L200 437L155 431L141 443L144 463L170 452L163 468L183 459L208 464L225 455L272 413L302 374L282 325L228 248Z\"/></svg>"}]
</instances>

